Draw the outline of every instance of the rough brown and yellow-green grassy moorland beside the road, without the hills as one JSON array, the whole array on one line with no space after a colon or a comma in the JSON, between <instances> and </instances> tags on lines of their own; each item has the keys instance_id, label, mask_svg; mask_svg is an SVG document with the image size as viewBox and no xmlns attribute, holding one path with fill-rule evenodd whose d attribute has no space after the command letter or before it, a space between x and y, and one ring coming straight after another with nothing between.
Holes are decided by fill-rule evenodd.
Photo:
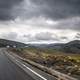
<instances>
[{"instance_id":1,"label":"rough brown and yellow-green grassy moorland beside the road, without the hills","mask_svg":"<svg viewBox=\"0 0 80 80\"><path fill-rule=\"evenodd\" d=\"M64 53L55 49L12 49L21 57L80 79L80 54Z\"/></svg>"}]
</instances>

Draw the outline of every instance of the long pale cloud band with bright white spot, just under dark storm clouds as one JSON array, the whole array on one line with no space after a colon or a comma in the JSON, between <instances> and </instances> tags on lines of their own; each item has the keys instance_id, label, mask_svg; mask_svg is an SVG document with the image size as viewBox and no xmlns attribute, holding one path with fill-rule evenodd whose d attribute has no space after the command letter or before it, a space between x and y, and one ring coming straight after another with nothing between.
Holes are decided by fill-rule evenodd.
<instances>
[{"instance_id":1,"label":"long pale cloud band with bright white spot, just under dark storm clouds","mask_svg":"<svg viewBox=\"0 0 80 80\"><path fill-rule=\"evenodd\" d=\"M75 30L80 31L80 17L73 17L54 21L44 17L31 18L28 20L15 20L19 24L25 24L32 28L57 29L57 30Z\"/></svg>"}]
</instances>

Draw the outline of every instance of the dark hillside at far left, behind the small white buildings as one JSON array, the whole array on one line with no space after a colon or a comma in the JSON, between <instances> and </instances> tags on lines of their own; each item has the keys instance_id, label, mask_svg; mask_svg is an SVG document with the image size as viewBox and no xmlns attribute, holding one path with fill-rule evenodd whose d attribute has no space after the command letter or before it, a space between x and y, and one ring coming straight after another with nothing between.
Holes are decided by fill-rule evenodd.
<instances>
[{"instance_id":1,"label":"dark hillside at far left, behind the small white buildings","mask_svg":"<svg viewBox=\"0 0 80 80\"><path fill-rule=\"evenodd\" d=\"M6 40L6 39L0 39L0 47L24 47L27 46L27 44L21 43L21 42L16 42L16 41L11 41L11 40Z\"/></svg>"}]
</instances>

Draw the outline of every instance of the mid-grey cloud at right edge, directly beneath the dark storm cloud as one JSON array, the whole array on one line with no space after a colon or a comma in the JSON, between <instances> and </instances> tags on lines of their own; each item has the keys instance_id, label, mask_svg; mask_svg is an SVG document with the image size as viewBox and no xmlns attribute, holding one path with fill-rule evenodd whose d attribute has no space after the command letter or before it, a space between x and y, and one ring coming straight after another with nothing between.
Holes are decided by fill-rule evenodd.
<instances>
[{"instance_id":1,"label":"mid-grey cloud at right edge, directly beneath the dark storm cloud","mask_svg":"<svg viewBox=\"0 0 80 80\"><path fill-rule=\"evenodd\" d=\"M80 30L80 17L62 20L55 26L56 29Z\"/></svg>"}]
</instances>

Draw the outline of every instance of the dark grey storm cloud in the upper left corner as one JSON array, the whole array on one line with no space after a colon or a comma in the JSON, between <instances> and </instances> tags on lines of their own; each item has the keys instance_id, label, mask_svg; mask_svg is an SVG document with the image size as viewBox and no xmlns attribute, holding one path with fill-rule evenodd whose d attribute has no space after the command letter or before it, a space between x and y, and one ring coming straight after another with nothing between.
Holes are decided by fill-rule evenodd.
<instances>
[{"instance_id":1,"label":"dark grey storm cloud in the upper left corner","mask_svg":"<svg viewBox=\"0 0 80 80\"><path fill-rule=\"evenodd\" d=\"M12 7L18 5L22 0L0 0L0 20L10 20L12 16Z\"/></svg>"}]
</instances>

